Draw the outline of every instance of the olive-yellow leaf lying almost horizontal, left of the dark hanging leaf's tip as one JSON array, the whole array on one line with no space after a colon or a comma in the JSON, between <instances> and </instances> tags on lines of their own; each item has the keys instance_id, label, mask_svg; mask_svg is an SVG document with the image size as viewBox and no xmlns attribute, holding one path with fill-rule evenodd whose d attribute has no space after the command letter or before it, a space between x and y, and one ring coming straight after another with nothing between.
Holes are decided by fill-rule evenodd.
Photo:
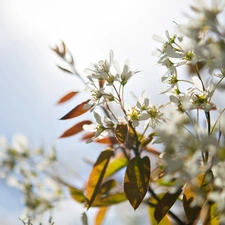
<instances>
[{"instance_id":1,"label":"olive-yellow leaf lying almost horizontal, left of the dark hanging leaf's tip","mask_svg":"<svg viewBox=\"0 0 225 225\"><path fill-rule=\"evenodd\" d=\"M114 204L118 204L127 200L124 192L106 195L101 198L96 198L92 204L92 207L105 207Z\"/></svg>"}]
</instances>

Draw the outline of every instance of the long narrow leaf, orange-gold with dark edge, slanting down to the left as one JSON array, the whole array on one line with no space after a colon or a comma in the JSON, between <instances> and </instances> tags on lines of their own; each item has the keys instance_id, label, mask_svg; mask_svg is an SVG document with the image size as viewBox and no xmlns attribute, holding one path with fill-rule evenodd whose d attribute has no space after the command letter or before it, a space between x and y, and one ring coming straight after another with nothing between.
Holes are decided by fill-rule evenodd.
<instances>
[{"instance_id":1,"label":"long narrow leaf, orange-gold with dark edge, slanting down to the left","mask_svg":"<svg viewBox=\"0 0 225 225\"><path fill-rule=\"evenodd\" d=\"M114 155L114 152L110 150L105 150L101 152L96 163L94 164L91 174L88 179L86 187L87 196L87 209L89 209L95 200L95 197L100 191L100 186L108 166L110 158Z\"/></svg>"}]
</instances>

